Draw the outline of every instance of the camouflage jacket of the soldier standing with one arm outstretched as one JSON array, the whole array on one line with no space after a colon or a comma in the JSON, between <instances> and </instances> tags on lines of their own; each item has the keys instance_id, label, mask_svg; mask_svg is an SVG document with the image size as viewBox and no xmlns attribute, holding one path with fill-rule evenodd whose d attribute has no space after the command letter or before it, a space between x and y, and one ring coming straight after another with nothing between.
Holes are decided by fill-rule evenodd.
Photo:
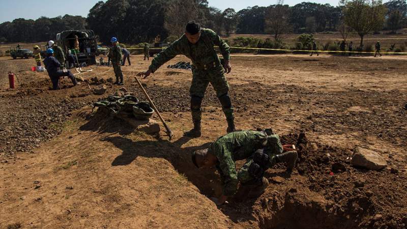
<instances>
[{"instance_id":1,"label":"camouflage jacket of the soldier standing with one arm outstretched","mask_svg":"<svg viewBox=\"0 0 407 229\"><path fill-rule=\"evenodd\" d=\"M219 46L222 56L225 60L230 59L229 45L223 41L219 35L208 28L201 29L201 35L196 44L191 44L185 34L173 42L168 48L164 49L151 62L149 69L152 72L157 71L165 62L175 58L176 55L184 54L192 60L194 65L206 65L220 60L214 45Z\"/></svg>"}]
</instances>

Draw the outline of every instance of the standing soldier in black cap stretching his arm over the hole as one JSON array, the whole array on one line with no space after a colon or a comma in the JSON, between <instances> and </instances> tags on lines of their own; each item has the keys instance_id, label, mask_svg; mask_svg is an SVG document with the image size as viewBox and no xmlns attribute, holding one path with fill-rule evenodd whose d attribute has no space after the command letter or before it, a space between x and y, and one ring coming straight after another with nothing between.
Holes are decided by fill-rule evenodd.
<instances>
[{"instance_id":1,"label":"standing soldier in black cap stretching his arm over the hole","mask_svg":"<svg viewBox=\"0 0 407 229\"><path fill-rule=\"evenodd\" d=\"M224 58L223 66L214 48L215 45L219 46ZM199 23L195 21L188 22L185 34L161 51L151 62L148 71L140 72L137 75L143 75L144 78L148 77L178 54L184 54L193 63L192 84L189 92L194 128L186 132L185 135L190 137L199 137L201 135L201 103L209 83L212 84L222 104L227 121L226 131L235 131L233 106L228 95L229 84L224 75L225 71L227 73L231 71L229 46L212 30L201 28Z\"/></svg>"}]
</instances>

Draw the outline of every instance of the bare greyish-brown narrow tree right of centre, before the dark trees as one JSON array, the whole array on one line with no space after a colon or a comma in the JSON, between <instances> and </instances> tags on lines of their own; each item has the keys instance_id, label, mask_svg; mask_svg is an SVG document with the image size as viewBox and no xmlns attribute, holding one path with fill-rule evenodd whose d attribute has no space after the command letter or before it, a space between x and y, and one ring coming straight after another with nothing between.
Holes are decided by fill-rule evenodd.
<instances>
[{"instance_id":1,"label":"bare greyish-brown narrow tree right of centre, before the dark trees","mask_svg":"<svg viewBox=\"0 0 407 229\"><path fill-rule=\"evenodd\" d=\"M290 32L288 22L290 9L288 5L283 5L283 0L278 0L277 5L269 6L266 10L266 32L274 35L274 40L280 42L282 35Z\"/></svg>"}]
</instances>

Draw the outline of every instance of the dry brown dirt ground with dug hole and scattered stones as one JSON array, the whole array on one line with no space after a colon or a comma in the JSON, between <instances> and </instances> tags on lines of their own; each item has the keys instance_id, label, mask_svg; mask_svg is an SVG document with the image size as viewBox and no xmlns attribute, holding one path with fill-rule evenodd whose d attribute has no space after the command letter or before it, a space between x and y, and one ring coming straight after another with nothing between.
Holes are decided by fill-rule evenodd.
<instances>
[{"instance_id":1,"label":"dry brown dirt ground with dug hole and scattered stones","mask_svg":"<svg viewBox=\"0 0 407 229\"><path fill-rule=\"evenodd\" d=\"M142 98L133 72L149 62L131 61L122 68L125 88ZM178 61L187 60L168 65ZM0 58L0 228L405 228L406 63L407 56L233 55L227 78L237 127L271 127L286 144L305 132L308 147L291 177L273 167L263 195L217 208L209 197L220 194L218 176L194 168L189 155L225 134L226 122L209 87L202 136L182 136L192 127L189 70L163 66L142 80L175 132L168 141L164 131L146 135L92 112L103 96L86 83L65 79L63 90L50 91L46 73L29 70L34 60ZM108 67L92 69L81 75L113 77ZM19 78L16 90L6 89L8 71ZM106 95L120 89L107 86ZM379 152L388 167L352 167L357 146Z\"/></svg>"}]
</instances>

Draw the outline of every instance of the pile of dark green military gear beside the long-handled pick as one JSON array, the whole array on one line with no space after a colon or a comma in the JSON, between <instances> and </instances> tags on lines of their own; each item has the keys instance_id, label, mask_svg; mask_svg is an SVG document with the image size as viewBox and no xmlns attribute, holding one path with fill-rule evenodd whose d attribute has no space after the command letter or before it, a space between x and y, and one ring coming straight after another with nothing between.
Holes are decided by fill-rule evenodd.
<instances>
[{"instance_id":1,"label":"pile of dark green military gear beside the long-handled pick","mask_svg":"<svg viewBox=\"0 0 407 229\"><path fill-rule=\"evenodd\" d=\"M111 116L131 117L137 120L149 120L154 113L149 102L139 101L132 93L117 92L93 104L98 112Z\"/></svg>"}]
</instances>

